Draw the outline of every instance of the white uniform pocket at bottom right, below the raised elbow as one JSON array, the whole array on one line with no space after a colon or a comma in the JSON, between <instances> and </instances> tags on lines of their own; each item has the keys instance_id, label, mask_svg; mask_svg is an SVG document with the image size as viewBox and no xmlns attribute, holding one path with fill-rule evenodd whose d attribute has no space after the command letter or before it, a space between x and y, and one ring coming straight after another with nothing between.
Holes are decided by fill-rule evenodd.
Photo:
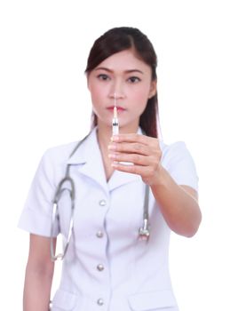
<instances>
[{"instance_id":1,"label":"white uniform pocket at bottom right, below the raised elbow","mask_svg":"<svg viewBox=\"0 0 230 311\"><path fill-rule=\"evenodd\" d=\"M129 305L132 311L178 311L171 291L147 291L131 295Z\"/></svg>"}]
</instances>

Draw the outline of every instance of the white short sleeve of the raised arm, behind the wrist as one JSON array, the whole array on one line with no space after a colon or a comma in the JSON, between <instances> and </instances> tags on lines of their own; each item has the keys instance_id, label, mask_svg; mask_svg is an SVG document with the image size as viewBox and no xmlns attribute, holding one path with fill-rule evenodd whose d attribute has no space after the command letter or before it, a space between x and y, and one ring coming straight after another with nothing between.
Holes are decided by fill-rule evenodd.
<instances>
[{"instance_id":1,"label":"white short sleeve of the raised arm, behind the wrist","mask_svg":"<svg viewBox=\"0 0 230 311\"><path fill-rule=\"evenodd\" d=\"M162 163L178 185L193 187L198 191L198 176L194 160L183 141L163 148Z\"/></svg>"}]
</instances>

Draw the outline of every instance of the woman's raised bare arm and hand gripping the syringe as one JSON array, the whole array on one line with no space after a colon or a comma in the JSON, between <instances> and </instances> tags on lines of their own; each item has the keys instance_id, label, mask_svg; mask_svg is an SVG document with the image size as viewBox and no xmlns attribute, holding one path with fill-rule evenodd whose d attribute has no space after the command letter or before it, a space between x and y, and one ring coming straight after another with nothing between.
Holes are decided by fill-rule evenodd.
<instances>
[{"instance_id":1,"label":"woman's raised bare arm and hand gripping the syringe","mask_svg":"<svg viewBox=\"0 0 230 311\"><path fill-rule=\"evenodd\" d=\"M197 194L192 187L178 185L163 168L158 140L138 134L121 134L113 137L108 148L109 157L115 161L112 163L115 170L139 174L151 187L171 230L179 235L193 236L202 219Z\"/></svg>"}]
</instances>

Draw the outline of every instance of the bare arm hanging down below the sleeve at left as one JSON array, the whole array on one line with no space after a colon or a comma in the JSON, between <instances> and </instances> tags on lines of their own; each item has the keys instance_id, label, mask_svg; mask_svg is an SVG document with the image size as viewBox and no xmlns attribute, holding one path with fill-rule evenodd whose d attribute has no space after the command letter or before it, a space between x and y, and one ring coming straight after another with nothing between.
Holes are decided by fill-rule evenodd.
<instances>
[{"instance_id":1,"label":"bare arm hanging down below the sleeve at left","mask_svg":"<svg viewBox=\"0 0 230 311\"><path fill-rule=\"evenodd\" d=\"M23 311L48 311L54 263L50 238L30 235L24 284Z\"/></svg>"}]
</instances>

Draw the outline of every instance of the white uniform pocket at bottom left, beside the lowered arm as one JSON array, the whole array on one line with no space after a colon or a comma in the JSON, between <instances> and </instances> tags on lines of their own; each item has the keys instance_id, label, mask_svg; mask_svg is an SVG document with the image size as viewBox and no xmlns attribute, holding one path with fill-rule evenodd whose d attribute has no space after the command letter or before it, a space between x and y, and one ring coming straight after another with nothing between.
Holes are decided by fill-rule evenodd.
<instances>
[{"instance_id":1,"label":"white uniform pocket at bottom left, beside the lowered arm","mask_svg":"<svg viewBox=\"0 0 230 311\"><path fill-rule=\"evenodd\" d=\"M78 302L77 295L72 292L58 290L53 297L51 311L75 311Z\"/></svg>"}]
</instances>

